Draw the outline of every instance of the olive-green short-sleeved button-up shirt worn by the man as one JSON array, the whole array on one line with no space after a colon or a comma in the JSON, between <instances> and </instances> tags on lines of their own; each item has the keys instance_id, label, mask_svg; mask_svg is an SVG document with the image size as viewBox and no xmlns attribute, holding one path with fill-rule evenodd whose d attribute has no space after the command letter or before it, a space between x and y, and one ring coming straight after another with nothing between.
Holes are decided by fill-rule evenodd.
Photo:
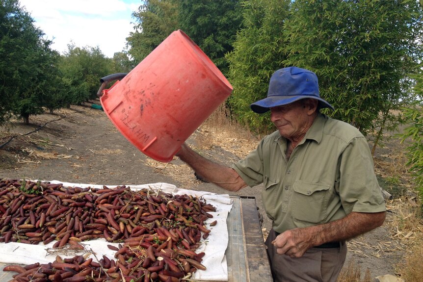
<instances>
[{"instance_id":1,"label":"olive-green short-sleeved button-up shirt worn by the man","mask_svg":"<svg viewBox=\"0 0 423 282\"><path fill-rule=\"evenodd\" d=\"M233 165L249 186L264 183L264 209L275 231L385 210L369 145L357 128L318 114L289 159L286 151L287 139L276 131Z\"/></svg>"}]
</instances>

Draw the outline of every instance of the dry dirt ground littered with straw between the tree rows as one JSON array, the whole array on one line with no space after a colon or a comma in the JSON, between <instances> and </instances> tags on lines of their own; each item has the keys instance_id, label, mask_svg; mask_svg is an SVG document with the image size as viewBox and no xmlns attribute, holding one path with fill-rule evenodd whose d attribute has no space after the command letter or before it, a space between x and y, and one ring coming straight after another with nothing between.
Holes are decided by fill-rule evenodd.
<instances>
[{"instance_id":1,"label":"dry dirt ground littered with straw between the tree rows","mask_svg":"<svg viewBox=\"0 0 423 282\"><path fill-rule=\"evenodd\" d=\"M142 154L114 128L101 110L72 106L54 115L31 116L30 122L32 124L26 126L16 121L0 128L0 146L16 136L0 148L0 179L106 185L166 182L185 189L227 194L211 183L197 180L189 167L177 158L170 163L160 163ZM20 135L42 125L45 126L38 131ZM231 164L255 148L257 139L248 134L233 136L227 129L225 132L222 128L204 125L187 143L200 154ZM391 153L385 148L378 150L378 154L383 165ZM265 236L270 221L264 213L261 190L261 185L247 187L238 195L256 197L258 211L263 215ZM395 265L403 257L406 244L390 230L392 220L392 212L388 212L384 226L349 241L346 265L353 262L362 273L369 269L372 278L395 274Z\"/></svg>"}]
</instances>

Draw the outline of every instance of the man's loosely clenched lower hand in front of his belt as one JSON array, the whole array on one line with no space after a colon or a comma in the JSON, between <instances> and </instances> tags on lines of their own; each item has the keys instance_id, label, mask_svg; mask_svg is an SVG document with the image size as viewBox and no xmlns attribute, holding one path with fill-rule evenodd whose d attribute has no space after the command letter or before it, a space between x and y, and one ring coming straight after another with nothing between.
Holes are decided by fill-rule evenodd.
<instances>
[{"instance_id":1,"label":"man's loosely clenched lower hand in front of his belt","mask_svg":"<svg viewBox=\"0 0 423 282\"><path fill-rule=\"evenodd\" d=\"M312 238L305 228L297 228L279 234L272 244L276 247L279 255L301 257L313 247Z\"/></svg>"}]
</instances>

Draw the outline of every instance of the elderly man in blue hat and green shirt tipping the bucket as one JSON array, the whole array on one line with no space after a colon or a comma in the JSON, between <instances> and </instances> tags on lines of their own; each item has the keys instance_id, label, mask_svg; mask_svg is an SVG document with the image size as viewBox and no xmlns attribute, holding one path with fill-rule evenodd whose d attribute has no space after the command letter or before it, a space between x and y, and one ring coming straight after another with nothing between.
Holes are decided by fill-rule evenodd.
<instances>
[{"instance_id":1,"label":"elderly man in blue hat and green shirt tipping the bucket","mask_svg":"<svg viewBox=\"0 0 423 282\"><path fill-rule=\"evenodd\" d=\"M232 167L196 154L185 144L178 156L203 178L229 190L264 184L272 220L266 240L274 281L335 282L345 261L345 240L383 224L385 202L366 138L319 112L315 73L276 71L267 97L251 104L270 110L277 131Z\"/></svg>"}]
</instances>

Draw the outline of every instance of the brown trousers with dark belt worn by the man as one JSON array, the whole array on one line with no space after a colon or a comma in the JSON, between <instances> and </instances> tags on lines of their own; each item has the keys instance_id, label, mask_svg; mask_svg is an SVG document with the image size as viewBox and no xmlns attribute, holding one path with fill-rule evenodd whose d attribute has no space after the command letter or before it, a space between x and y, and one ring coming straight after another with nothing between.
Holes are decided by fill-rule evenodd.
<instances>
[{"instance_id":1,"label":"brown trousers with dark belt worn by the man","mask_svg":"<svg viewBox=\"0 0 423 282\"><path fill-rule=\"evenodd\" d=\"M346 244L340 248L311 248L298 258L279 255L273 248L275 231L266 239L274 282L336 282L345 262Z\"/></svg>"}]
</instances>

